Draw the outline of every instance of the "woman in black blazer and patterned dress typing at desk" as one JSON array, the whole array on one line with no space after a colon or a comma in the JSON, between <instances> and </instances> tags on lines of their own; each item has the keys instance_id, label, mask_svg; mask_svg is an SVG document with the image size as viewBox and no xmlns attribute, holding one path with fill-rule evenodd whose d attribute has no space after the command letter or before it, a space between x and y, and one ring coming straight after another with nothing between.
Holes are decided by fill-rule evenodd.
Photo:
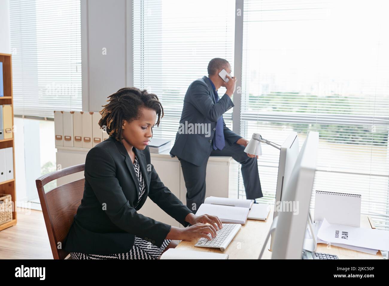
<instances>
[{"instance_id":1,"label":"woman in black blazer and patterned dress typing at desk","mask_svg":"<svg viewBox=\"0 0 389 286\"><path fill-rule=\"evenodd\" d=\"M151 164L147 145L163 117L158 97L126 87L108 98L99 125L109 138L86 155L84 195L65 251L74 259L156 259L176 246L172 239L215 237L222 227L219 218L193 214ZM147 196L185 228L138 214Z\"/></svg>"}]
</instances>

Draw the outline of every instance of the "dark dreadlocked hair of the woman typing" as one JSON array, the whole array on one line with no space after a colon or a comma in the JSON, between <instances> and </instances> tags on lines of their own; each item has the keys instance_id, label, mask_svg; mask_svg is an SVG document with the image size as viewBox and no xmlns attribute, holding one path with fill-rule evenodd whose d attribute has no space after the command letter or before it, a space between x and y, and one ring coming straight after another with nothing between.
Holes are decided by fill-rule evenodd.
<instances>
[{"instance_id":1,"label":"dark dreadlocked hair of the woman typing","mask_svg":"<svg viewBox=\"0 0 389 286\"><path fill-rule=\"evenodd\" d=\"M100 110L101 119L98 122L102 129L106 129L109 136L114 136L117 141L121 137L123 120L131 121L139 118L140 108L150 108L155 110L159 120L163 117L163 107L158 100L158 96L148 93L145 89L140 90L136 87L124 87L114 94L108 96L109 103L102 105Z\"/></svg>"}]
</instances>

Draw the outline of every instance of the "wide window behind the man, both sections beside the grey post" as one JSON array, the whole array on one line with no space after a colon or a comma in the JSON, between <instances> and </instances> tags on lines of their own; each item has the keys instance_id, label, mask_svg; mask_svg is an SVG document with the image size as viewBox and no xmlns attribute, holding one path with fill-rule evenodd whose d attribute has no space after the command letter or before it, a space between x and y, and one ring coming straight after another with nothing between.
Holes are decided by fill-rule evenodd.
<instances>
[{"instance_id":1,"label":"wide window behind the man, both sections beside the grey post","mask_svg":"<svg viewBox=\"0 0 389 286\"><path fill-rule=\"evenodd\" d=\"M318 131L314 190L361 194L362 213L389 229L387 5L245 0L235 25L235 1L134 0L134 85L156 93L166 112L154 133L174 140L188 85L206 75L210 59L226 58L242 69L240 103L224 114L228 126L240 108L234 131L247 139L258 132L282 144L296 131L301 146ZM234 44L242 63L233 63ZM274 201L278 162L279 151L263 146L261 202Z\"/></svg>"}]
</instances>

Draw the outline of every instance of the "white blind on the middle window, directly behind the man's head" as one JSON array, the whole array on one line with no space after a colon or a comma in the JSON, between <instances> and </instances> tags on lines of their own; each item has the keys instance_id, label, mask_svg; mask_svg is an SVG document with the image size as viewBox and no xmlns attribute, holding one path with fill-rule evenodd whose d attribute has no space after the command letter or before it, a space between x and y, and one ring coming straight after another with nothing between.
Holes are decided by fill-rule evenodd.
<instances>
[{"instance_id":1,"label":"white blind on the middle window, directly behind the man's head","mask_svg":"<svg viewBox=\"0 0 389 286\"><path fill-rule=\"evenodd\" d=\"M212 58L233 70L234 10L231 0L133 0L134 86L155 93L165 112L153 136L175 140L187 88ZM232 108L223 116L232 129Z\"/></svg>"}]
</instances>

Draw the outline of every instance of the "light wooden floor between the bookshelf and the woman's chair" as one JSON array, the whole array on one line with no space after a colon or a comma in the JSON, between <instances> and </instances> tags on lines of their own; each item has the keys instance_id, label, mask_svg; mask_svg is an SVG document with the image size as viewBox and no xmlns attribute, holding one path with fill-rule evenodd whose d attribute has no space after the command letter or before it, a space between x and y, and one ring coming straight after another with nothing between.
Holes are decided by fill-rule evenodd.
<instances>
[{"instance_id":1,"label":"light wooden floor between the bookshelf and the woman's chair","mask_svg":"<svg viewBox=\"0 0 389 286\"><path fill-rule=\"evenodd\" d=\"M18 211L18 223L0 231L0 259L53 259L41 211Z\"/></svg>"}]
</instances>

